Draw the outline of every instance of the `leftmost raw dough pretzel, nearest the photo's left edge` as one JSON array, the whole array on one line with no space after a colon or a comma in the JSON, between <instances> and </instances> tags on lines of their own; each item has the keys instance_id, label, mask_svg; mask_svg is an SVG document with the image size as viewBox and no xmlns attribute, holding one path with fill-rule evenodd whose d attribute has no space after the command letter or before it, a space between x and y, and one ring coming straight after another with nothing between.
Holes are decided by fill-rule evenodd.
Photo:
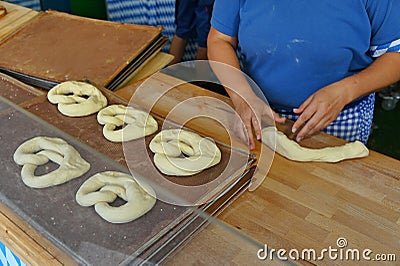
<instances>
[{"instance_id":1,"label":"leftmost raw dough pretzel, nearest the photo's left edge","mask_svg":"<svg viewBox=\"0 0 400 266\"><path fill-rule=\"evenodd\" d=\"M27 140L15 150L13 157L17 164L22 165L22 181L33 188L63 184L83 175L90 168L79 152L60 138L39 136ZM59 167L50 173L35 176L35 169L49 161Z\"/></svg>"}]
</instances>

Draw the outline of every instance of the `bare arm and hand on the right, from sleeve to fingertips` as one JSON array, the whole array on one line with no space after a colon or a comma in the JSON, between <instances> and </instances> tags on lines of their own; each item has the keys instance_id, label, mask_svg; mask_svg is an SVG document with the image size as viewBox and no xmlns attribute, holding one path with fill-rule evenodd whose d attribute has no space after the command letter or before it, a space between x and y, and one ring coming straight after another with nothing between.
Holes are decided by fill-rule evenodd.
<instances>
[{"instance_id":1,"label":"bare arm and hand on the right, from sleeve to fingertips","mask_svg":"<svg viewBox=\"0 0 400 266\"><path fill-rule=\"evenodd\" d=\"M332 123L344 106L400 80L400 53L389 52L363 71L321 88L293 109L300 117L293 124L296 141L309 137Z\"/></svg>"}]
</instances>

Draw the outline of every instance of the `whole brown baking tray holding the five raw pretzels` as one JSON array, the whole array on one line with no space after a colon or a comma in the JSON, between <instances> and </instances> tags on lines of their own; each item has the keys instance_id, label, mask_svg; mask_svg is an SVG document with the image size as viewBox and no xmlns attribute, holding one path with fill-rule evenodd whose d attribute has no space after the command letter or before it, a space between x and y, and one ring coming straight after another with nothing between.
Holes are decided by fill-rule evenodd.
<instances>
[{"instance_id":1,"label":"whole brown baking tray holding the five raw pretzels","mask_svg":"<svg viewBox=\"0 0 400 266\"><path fill-rule=\"evenodd\" d=\"M100 89L107 97L108 104L127 104L125 99L104 88ZM196 209L165 203L161 200L157 201L156 206L148 214L124 225L109 224L102 220L93 209L78 206L74 195L86 178L96 172L115 169L115 164L126 169L124 148L134 151L129 153L134 156L127 158L133 160L133 165L137 164L137 167L129 164L130 170L144 178L149 178L148 181L154 185L157 181L152 180L150 176L152 171L157 170L152 165L152 153L148 149L148 143L154 134L144 139L128 142L129 145L123 146L121 143L109 142L103 137L103 126L98 124L96 114L80 118L66 117L57 110L56 105L47 100L46 95L24 102L21 107L29 112L29 118L13 110L5 111L0 115L0 122L5 126L0 130L0 135L7 135L6 128L12 130L10 135L1 140L1 143L8 143L8 146L5 153L1 155L0 168L7 173L5 175L7 177L0 178L0 187L4 188L4 191L0 189L0 200L13 210L18 210L18 215L29 221L30 224L32 222L34 228L46 237L54 239L60 248L66 249L66 253L76 257L76 260L96 265L125 263L137 256L139 256L139 261L147 258L159 260L158 255L149 254L149 252L164 254L167 251L160 247L163 247L165 243L171 243L169 247L178 245L190 237L193 233L192 228L197 230L206 224L204 218L197 217L193 212ZM156 119L159 123L164 122L159 117ZM174 124L171 123L171 127L173 126ZM83 158L91 162L90 172L77 180L53 188L34 190L24 186L19 176L20 167L12 161L12 153L22 141L37 135L64 136L67 141L71 141L71 144L84 143L84 146L91 150L86 150L80 145L74 146L78 148ZM143 145L146 145L145 149L143 149ZM164 176L165 180L187 187L198 187L213 181L226 167L232 152L228 146L219 143L218 145L222 151L222 162L216 167L185 179ZM233 150L233 152L239 153L241 156L249 156L241 151ZM249 160L251 159L253 158L250 156ZM240 168L239 165L236 167ZM215 200L220 196L237 193L236 188L232 188L232 186L238 181L244 181L244 177L237 173L237 170L229 169L227 178L232 179L223 180L220 186L211 190L200 191L200 195L197 197L204 200ZM248 181L249 176L246 178ZM15 180L18 185L11 188L12 184L15 184ZM157 185L162 187L162 184ZM160 189L157 192L160 192ZM169 193L173 192L173 190L169 191ZM19 197L19 194L23 194L23 197ZM51 202L51 206L48 206L48 202ZM226 204L229 203L217 201L212 205L205 204L199 206L197 212L207 211L211 208L211 212L214 213L214 209L223 208ZM54 222L55 224L52 224L56 214L59 218ZM188 223L194 224L189 226ZM96 229L102 233L95 235ZM129 231L128 234L125 233L126 230ZM176 240L172 240L176 237L178 237Z\"/></svg>"}]
</instances>

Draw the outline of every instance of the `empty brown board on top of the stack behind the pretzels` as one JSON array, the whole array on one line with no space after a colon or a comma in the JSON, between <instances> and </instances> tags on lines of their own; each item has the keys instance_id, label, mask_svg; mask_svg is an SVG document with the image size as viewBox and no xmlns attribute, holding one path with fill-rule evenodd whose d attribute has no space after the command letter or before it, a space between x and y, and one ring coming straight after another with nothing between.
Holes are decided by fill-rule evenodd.
<instances>
[{"instance_id":1,"label":"empty brown board on top of the stack behind the pretzels","mask_svg":"<svg viewBox=\"0 0 400 266\"><path fill-rule=\"evenodd\" d=\"M0 67L106 86L161 37L161 27L45 11L0 43Z\"/></svg>"}]
</instances>

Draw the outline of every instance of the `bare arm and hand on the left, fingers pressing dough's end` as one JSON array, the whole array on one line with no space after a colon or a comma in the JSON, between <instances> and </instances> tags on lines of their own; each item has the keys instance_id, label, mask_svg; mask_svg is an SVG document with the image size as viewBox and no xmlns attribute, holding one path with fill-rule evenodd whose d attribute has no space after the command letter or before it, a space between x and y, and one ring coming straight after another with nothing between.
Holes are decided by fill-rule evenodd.
<instances>
[{"instance_id":1,"label":"bare arm and hand on the left, fingers pressing dough's end","mask_svg":"<svg viewBox=\"0 0 400 266\"><path fill-rule=\"evenodd\" d=\"M225 86L247 131L248 138L245 137L246 134L242 134L241 137L247 141L250 149L254 149L253 129L256 138L260 140L261 116L272 113L274 121L278 123L284 123L285 119L279 117L278 114L273 112L267 104L256 96L243 75L237 74L241 73L239 59L236 54L237 38L225 35L211 27L207 46L210 65L220 82ZM219 67L219 64L213 64L213 61L227 64L238 71L233 72L226 68Z\"/></svg>"}]
</instances>

